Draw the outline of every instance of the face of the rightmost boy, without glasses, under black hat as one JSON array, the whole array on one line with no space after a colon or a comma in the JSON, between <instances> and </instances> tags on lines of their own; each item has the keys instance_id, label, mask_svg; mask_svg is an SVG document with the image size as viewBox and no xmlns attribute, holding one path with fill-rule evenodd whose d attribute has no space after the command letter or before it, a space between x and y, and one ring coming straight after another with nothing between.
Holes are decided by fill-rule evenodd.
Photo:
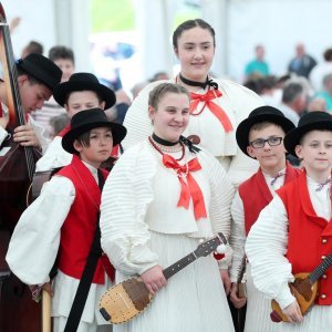
<instances>
[{"instance_id":1,"label":"face of the rightmost boy, without glasses, under black hat","mask_svg":"<svg viewBox=\"0 0 332 332\"><path fill-rule=\"evenodd\" d=\"M302 137L301 145L297 145L295 153L303 159L308 175L331 172L332 167L332 132L312 131Z\"/></svg>"}]
</instances>

